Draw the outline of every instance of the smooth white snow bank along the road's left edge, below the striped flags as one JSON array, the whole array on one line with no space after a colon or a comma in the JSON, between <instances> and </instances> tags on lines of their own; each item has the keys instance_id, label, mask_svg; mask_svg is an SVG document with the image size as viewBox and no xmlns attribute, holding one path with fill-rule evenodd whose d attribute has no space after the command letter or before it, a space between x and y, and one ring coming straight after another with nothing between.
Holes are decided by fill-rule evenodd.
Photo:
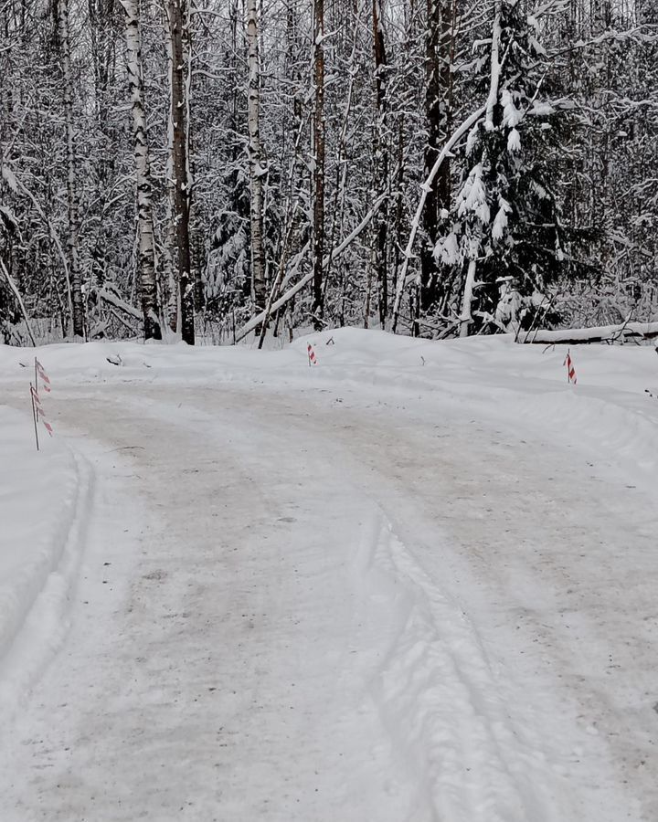
<instances>
[{"instance_id":1,"label":"smooth white snow bank along the road's left edge, below the striped flags","mask_svg":"<svg viewBox=\"0 0 658 822\"><path fill-rule=\"evenodd\" d=\"M12 712L58 648L78 565L89 470L69 448L34 445L29 401L0 406L0 705Z\"/></svg>"}]
</instances>

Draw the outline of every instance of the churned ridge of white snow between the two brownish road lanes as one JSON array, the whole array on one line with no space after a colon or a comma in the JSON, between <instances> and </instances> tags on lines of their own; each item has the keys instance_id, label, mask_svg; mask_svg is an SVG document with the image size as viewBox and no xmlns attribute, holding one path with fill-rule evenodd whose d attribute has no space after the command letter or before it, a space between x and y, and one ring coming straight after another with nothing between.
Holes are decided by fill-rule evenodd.
<instances>
[{"instance_id":1,"label":"churned ridge of white snow between the two brownish road lanes","mask_svg":"<svg viewBox=\"0 0 658 822\"><path fill-rule=\"evenodd\" d=\"M477 634L381 511L363 534L355 572L366 603L361 625L380 644L372 694L429 818L557 822L545 756L519 738Z\"/></svg>"}]
</instances>

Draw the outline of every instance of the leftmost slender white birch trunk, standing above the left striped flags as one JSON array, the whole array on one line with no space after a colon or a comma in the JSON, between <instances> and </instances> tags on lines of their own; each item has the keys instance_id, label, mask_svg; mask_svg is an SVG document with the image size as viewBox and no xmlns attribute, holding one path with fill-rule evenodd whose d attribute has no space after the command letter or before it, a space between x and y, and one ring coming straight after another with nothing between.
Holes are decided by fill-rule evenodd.
<instances>
[{"instance_id":1,"label":"leftmost slender white birch trunk, standing above the left striped flags","mask_svg":"<svg viewBox=\"0 0 658 822\"><path fill-rule=\"evenodd\" d=\"M70 301L72 305L73 335L84 339L84 305L82 302L82 278L80 275L80 206L78 202L78 181L76 179L75 130L73 127L73 77L70 65L69 0L59 0L59 39L62 50L62 75L64 81L64 115L67 132L67 205L69 212L69 236L67 250L69 257Z\"/></svg>"}]
</instances>

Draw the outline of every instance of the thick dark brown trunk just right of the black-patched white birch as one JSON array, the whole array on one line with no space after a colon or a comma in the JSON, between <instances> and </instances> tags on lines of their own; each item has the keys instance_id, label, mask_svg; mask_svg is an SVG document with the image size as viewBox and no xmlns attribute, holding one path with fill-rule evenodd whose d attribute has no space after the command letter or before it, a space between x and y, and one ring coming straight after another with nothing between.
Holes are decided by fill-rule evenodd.
<instances>
[{"instance_id":1,"label":"thick dark brown trunk just right of the black-patched white birch","mask_svg":"<svg viewBox=\"0 0 658 822\"><path fill-rule=\"evenodd\" d=\"M184 38L189 35L189 20L186 14L186 0L168 0L166 6L169 25L167 45L169 55L170 94L170 177L167 180L171 208L174 241L172 258L175 279L178 283L177 331L183 342L194 345L194 282L191 277L190 260L190 201L191 181L187 165L187 94L186 55Z\"/></svg>"}]
</instances>

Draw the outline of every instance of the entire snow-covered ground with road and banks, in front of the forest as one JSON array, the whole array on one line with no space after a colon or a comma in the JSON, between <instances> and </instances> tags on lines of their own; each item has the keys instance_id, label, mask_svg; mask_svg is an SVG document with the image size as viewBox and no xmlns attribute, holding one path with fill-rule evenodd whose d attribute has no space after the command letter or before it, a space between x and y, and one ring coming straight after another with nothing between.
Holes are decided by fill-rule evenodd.
<instances>
[{"instance_id":1,"label":"entire snow-covered ground with road and banks, in front of the forest","mask_svg":"<svg viewBox=\"0 0 658 822\"><path fill-rule=\"evenodd\" d=\"M48 346L37 454L0 348L0 819L655 822L658 356L565 353Z\"/></svg>"}]
</instances>

